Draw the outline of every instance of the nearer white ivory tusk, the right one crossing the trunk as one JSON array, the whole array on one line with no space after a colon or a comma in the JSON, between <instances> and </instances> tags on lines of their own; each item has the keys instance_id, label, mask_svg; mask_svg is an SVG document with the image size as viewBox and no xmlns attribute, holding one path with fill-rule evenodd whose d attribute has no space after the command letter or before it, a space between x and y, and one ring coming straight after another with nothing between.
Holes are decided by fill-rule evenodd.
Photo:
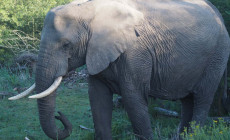
<instances>
[{"instance_id":1,"label":"nearer white ivory tusk, the right one crossing the trunk","mask_svg":"<svg viewBox=\"0 0 230 140\"><path fill-rule=\"evenodd\" d=\"M43 91L43 92L41 92L39 94L36 94L36 95L33 95L33 96L29 96L29 98L39 99L39 98L43 98L43 97L46 97L46 96L50 95L61 84L61 80L62 80L62 76L60 76L57 79L55 79L55 81L53 82L53 84L47 90L45 90L45 91Z\"/></svg>"}]
</instances>

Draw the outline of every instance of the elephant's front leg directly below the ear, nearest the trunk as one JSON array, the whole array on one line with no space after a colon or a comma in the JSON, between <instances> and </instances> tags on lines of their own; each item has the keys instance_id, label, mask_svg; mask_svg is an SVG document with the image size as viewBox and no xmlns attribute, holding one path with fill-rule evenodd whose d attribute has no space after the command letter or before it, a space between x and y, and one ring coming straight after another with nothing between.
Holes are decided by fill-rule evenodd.
<instances>
[{"instance_id":1,"label":"elephant's front leg directly below the ear, nearest the trunk","mask_svg":"<svg viewBox=\"0 0 230 140\"><path fill-rule=\"evenodd\" d=\"M89 77L89 99L93 113L95 139L111 140L111 120L113 94L97 78Z\"/></svg>"}]
</instances>

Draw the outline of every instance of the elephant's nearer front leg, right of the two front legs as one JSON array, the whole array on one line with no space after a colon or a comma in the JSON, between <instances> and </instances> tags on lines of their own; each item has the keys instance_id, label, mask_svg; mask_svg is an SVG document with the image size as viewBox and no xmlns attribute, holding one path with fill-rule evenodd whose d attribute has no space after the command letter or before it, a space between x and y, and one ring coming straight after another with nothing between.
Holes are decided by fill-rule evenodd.
<instances>
[{"instance_id":1,"label":"elephant's nearer front leg, right of the two front legs","mask_svg":"<svg viewBox=\"0 0 230 140\"><path fill-rule=\"evenodd\" d=\"M153 139L148 113L148 92L142 86L123 86L122 101L131 120L135 135L141 140Z\"/></svg>"}]
</instances>

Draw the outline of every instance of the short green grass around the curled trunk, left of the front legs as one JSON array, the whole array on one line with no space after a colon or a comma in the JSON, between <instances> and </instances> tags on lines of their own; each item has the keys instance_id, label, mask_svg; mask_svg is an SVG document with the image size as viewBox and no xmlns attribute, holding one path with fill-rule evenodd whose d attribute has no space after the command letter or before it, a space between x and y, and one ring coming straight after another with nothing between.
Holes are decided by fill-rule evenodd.
<instances>
[{"instance_id":1,"label":"short green grass around the curled trunk, left of the front legs","mask_svg":"<svg viewBox=\"0 0 230 140\"><path fill-rule=\"evenodd\" d=\"M79 125L93 128L87 88L69 90L61 87L58 93L56 110L63 112L74 126L68 139L92 139L92 132L79 128ZM48 140L39 124L36 100L8 101L4 98L0 104L1 140L22 140L26 136L34 140ZM62 127L60 122L57 121L57 124Z\"/></svg>"}]
</instances>

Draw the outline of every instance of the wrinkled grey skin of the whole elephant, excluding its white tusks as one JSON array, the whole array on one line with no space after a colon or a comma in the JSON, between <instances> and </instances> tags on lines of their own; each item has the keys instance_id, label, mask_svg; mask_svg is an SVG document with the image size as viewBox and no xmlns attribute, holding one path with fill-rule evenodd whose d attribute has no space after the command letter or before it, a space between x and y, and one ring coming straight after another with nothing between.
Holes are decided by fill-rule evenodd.
<instances>
[{"instance_id":1,"label":"wrinkled grey skin of the whole elephant, excluding its white tusks","mask_svg":"<svg viewBox=\"0 0 230 140\"><path fill-rule=\"evenodd\" d=\"M110 140L112 97L119 94L141 139L152 139L148 95L181 100L179 132L201 125L226 67L230 41L217 9L203 0L75 1L50 10L41 35L36 92L84 64L95 138ZM41 126L64 139L72 126L61 114L55 125L56 93L38 99Z\"/></svg>"}]
</instances>

